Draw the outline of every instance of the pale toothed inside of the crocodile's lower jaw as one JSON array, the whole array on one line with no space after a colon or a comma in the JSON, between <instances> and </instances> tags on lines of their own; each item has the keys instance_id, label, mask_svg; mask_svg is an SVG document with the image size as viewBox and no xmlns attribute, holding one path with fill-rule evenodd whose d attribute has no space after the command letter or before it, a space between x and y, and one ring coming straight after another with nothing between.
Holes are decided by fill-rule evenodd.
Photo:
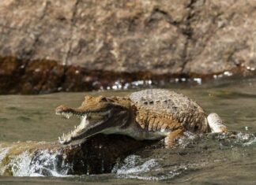
<instances>
[{"instance_id":1,"label":"pale toothed inside of the crocodile's lower jaw","mask_svg":"<svg viewBox=\"0 0 256 185\"><path fill-rule=\"evenodd\" d=\"M66 117L70 118L70 114L68 114ZM77 137L77 135L81 134L85 128L88 127L88 119L87 119L87 115L81 117L81 123L78 126L74 127L73 131L70 131L67 134L63 134L61 137L58 137L58 142L60 142L61 144L68 144L72 141L72 139L74 137Z\"/></svg>"}]
</instances>

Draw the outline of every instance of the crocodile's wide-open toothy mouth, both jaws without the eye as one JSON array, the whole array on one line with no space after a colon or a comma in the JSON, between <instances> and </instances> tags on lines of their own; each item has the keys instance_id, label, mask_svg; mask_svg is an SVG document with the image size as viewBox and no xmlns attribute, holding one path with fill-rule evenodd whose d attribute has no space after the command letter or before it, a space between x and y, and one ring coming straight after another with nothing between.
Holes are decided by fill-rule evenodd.
<instances>
[{"instance_id":1,"label":"crocodile's wide-open toothy mouth, both jaws without the eye","mask_svg":"<svg viewBox=\"0 0 256 185\"><path fill-rule=\"evenodd\" d=\"M55 112L57 115L67 119L72 116L81 119L81 123L75 126L73 131L58 137L58 142L61 144L69 144L70 142L81 143L88 137L104 131L104 128L107 126L105 122L111 116L111 111L109 110L105 112L81 112L64 105L58 106Z\"/></svg>"}]
</instances>

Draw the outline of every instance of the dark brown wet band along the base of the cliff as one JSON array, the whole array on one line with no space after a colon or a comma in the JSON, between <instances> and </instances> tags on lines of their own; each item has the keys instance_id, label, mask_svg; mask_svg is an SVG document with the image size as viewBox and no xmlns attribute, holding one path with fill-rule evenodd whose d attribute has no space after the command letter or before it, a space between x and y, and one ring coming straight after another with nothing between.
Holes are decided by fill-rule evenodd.
<instances>
[{"instance_id":1,"label":"dark brown wet band along the base of the cliff","mask_svg":"<svg viewBox=\"0 0 256 185\"><path fill-rule=\"evenodd\" d=\"M97 91L150 87L160 81L180 81L180 76L151 72L110 72L80 66L59 65L57 61L22 61L0 58L0 94L46 94L59 91Z\"/></svg>"}]
</instances>

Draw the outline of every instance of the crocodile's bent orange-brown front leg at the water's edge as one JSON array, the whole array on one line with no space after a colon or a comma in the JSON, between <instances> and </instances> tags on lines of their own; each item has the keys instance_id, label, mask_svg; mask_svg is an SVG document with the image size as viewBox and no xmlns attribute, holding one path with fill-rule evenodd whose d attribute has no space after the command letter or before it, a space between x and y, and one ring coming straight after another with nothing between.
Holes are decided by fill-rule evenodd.
<instances>
[{"instance_id":1,"label":"crocodile's bent orange-brown front leg at the water's edge","mask_svg":"<svg viewBox=\"0 0 256 185\"><path fill-rule=\"evenodd\" d=\"M167 137L164 138L164 146L166 148L174 148L177 146L177 140L183 136L184 128L178 128L175 131L171 131Z\"/></svg>"}]
</instances>

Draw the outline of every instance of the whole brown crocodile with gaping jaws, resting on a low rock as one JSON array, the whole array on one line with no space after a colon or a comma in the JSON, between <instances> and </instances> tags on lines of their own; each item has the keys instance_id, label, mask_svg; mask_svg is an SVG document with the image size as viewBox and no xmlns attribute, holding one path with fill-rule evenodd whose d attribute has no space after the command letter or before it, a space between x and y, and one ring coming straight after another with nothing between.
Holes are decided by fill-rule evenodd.
<instances>
[{"instance_id":1,"label":"whole brown crocodile with gaping jaws, resting on a low rock","mask_svg":"<svg viewBox=\"0 0 256 185\"><path fill-rule=\"evenodd\" d=\"M205 111L190 98L175 91L148 89L126 97L85 96L78 108L59 105L55 113L76 116L81 123L58 138L61 144L85 142L92 135L128 135L136 140L161 140L175 146L185 131L194 133L226 132L216 113Z\"/></svg>"}]
</instances>

